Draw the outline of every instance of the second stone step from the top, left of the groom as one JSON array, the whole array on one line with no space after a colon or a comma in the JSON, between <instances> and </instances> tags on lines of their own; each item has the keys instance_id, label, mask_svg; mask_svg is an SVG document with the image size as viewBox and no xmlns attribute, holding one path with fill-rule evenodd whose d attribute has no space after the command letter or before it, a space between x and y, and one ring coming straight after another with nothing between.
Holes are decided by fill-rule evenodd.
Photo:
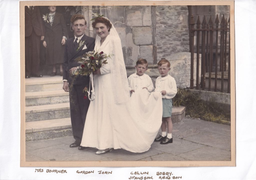
<instances>
[{"instance_id":1,"label":"second stone step from the top, left of the groom","mask_svg":"<svg viewBox=\"0 0 256 180\"><path fill-rule=\"evenodd\" d=\"M69 92L61 90L26 92L25 106L57 104L69 102Z\"/></svg>"}]
</instances>

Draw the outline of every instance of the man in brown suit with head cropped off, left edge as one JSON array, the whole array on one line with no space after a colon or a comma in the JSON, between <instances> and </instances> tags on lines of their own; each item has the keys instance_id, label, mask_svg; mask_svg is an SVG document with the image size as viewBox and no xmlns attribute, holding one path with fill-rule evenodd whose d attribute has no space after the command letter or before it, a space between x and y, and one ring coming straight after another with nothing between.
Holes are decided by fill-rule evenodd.
<instances>
[{"instance_id":1,"label":"man in brown suit with head cropped off, left edge","mask_svg":"<svg viewBox=\"0 0 256 180\"><path fill-rule=\"evenodd\" d=\"M42 77L39 72L40 41L44 27L38 6L25 6L25 77Z\"/></svg>"}]
</instances>

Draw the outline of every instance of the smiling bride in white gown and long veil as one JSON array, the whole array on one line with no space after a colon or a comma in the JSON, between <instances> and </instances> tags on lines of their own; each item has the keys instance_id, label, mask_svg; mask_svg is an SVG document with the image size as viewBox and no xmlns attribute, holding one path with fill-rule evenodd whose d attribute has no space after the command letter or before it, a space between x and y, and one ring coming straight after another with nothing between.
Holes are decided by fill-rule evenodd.
<instances>
[{"instance_id":1,"label":"smiling bride in white gown and long veil","mask_svg":"<svg viewBox=\"0 0 256 180\"><path fill-rule=\"evenodd\" d=\"M118 32L101 16L94 18L92 27L97 33L94 50L112 56L93 73L95 99L87 112L81 146L97 148L96 154L120 148L147 151L162 124L161 93L149 95L143 89L130 98Z\"/></svg>"}]
</instances>

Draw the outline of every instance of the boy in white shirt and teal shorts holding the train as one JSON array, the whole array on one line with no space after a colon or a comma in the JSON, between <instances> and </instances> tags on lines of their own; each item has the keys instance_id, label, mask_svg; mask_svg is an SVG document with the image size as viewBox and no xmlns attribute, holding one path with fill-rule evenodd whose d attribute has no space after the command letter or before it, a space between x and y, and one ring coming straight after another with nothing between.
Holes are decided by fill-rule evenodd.
<instances>
[{"instance_id":1,"label":"boy in white shirt and teal shorts holding the train","mask_svg":"<svg viewBox=\"0 0 256 180\"><path fill-rule=\"evenodd\" d=\"M161 59L157 65L161 76L156 78L155 92L162 93L163 118L161 125L162 135L159 135L154 141L160 142L160 144L168 144L173 142L173 123L171 119L173 106L172 98L177 94L177 85L175 79L168 74L170 71L170 62L166 59Z\"/></svg>"}]
</instances>

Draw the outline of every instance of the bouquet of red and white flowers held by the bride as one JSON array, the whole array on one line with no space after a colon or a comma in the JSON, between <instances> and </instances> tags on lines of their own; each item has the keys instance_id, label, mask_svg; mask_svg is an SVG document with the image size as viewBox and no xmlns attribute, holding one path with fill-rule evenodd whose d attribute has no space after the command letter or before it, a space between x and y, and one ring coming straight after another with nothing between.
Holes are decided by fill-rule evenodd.
<instances>
[{"instance_id":1,"label":"bouquet of red and white flowers held by the bride","mask_svg":"<svg viewBox=\"0 0 256 180\"><path fill-rule=\"evenodd\" d=\"M89 51L76 59L81 65L72 71L72 74L82 76L91 74L93 71L100 69L104 64L107 64L108 57L111 57L111 55L106 55L103 51Z\"/></svg>"}]
</instances>

